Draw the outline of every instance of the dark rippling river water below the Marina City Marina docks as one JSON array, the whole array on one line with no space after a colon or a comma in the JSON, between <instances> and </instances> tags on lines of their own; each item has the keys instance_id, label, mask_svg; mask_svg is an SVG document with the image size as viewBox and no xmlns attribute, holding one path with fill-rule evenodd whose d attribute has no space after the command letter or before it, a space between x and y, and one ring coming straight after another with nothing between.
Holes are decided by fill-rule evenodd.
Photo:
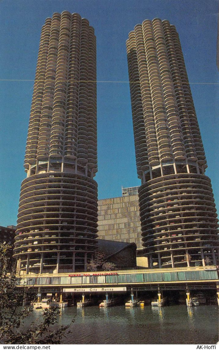
<instances>
[{"instance_id":1,"label":"dark rippling river water below the Marina City Marina docks","mask_svg":"<svg viewBox=\"0 0 219 350\"><path fill-rule=\"evenodd\" d=\"M34 321L41 310L30 316ZM61 310L58 325L70 325L63 344L216 344L218 306L107 309L91 306Z\"/></svg>"}]
</instances>

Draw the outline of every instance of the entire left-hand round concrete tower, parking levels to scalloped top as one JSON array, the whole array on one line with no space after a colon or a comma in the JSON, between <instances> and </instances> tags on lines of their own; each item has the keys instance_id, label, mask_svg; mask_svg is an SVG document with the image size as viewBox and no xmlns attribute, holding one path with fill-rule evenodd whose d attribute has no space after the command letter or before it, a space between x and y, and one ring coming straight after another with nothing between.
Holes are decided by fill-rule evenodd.
<instances>
[{"instance_id":1,"label":"entire left-hand round concrete tower, parking levels to scalloped top","mask_svg":"<svg viewBox=\"0 0 219 350\"><path fill-rule=\"evenodd\" d=\"M86 271L97 247L96 37L79 14L42 27L21 184L17 272Z\"/></svg>"}]
</instances>

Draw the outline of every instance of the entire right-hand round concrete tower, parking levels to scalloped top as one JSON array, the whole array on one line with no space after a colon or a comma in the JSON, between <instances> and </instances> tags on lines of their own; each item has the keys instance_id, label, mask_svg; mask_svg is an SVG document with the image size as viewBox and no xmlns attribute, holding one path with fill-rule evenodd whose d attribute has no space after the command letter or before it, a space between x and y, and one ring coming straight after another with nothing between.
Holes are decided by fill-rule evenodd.
<instances>
[{"instance_id":1,"label":"entire right-hand round concrete tower, parking levels to scalloped top","mask_svg":"<svg viewBox=\"0 0 219 350\"><path fill-rule=\"evenodd\" d=\"M145 20L126 44L144 255L150 267L216 265L217 214L176 28Z\"/></svg>"}]
</instances>

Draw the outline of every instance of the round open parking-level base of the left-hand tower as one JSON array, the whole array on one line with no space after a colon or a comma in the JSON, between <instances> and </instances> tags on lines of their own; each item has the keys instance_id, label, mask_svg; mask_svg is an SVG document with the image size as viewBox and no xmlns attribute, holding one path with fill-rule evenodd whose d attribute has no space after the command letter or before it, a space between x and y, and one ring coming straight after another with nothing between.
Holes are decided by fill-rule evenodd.
<instances>
[{"instance_id":1,"label":"round open parking-level base of the left-hand tower","mask_svg":"<svg viewBox=\"0 0 219 350\"><path fill-rule=\"evenodd\" d=\"M20 272L84 270L97 248L97 183L68 173L29 176L21 186L16 233Z\"/></svg>"}]
</instances>

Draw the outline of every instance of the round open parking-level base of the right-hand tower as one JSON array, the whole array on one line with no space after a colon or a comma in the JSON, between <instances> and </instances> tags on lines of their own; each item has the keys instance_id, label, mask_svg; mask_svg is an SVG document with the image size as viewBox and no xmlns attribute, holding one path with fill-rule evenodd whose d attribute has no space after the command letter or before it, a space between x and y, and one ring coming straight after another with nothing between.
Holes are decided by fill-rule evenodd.
<instances>
[{"instance_id":1,"label":"round open parking-level base of the right-hand tower","mask_svg":"<svg viewBox=\"0 0 219 350\"><path fill-rule=\"evenodd\" d=\"M177 174L150 180L140 187L139 202L147 257L161 267L168 254L172 267L205 265L206 256L218 264L218 220L207 176Z\"/></svg>"}]
</instances>

